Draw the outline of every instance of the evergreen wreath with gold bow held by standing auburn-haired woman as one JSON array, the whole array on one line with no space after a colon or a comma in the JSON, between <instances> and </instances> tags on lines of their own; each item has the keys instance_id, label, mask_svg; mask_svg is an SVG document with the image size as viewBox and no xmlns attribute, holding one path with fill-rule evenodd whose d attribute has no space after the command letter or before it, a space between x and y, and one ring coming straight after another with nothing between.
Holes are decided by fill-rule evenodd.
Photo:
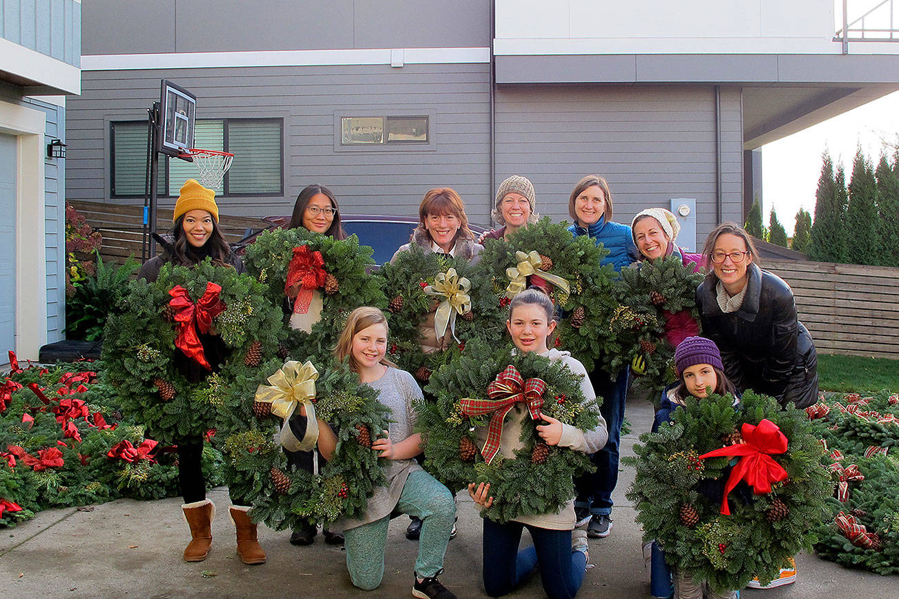
<instances>
[{"instance_id":1,"label":"evergreen wreath with gold bow held by standing auburn-haired woman","mask_svg":"<svg viewBox=\"0 0 899 599\"><path fill-rule=\"evenodd\" d=\"M428 295L425 287L433 286L435 277L454 269L458 277L466 277L472 286L467 292L470 309L454 316L455 334L458 344L451 344L442 352L424 354L421 347L423 320L437 302L446 298ZM399 254L396 262L385 264L376 273L379 286L384 289L389 302L387 321L390 326L390 345L387 357L405 371L414 374L419 384L424 385L432 372L448 364L465 348L468 340L479 337L499 341L505 332L505 310L496 302L490 287L475 286L483 277L467 260L455 260L437 253L425 253L413 243L408 251ZM450 330L450 327L447 327Z\"/></svg>"}]
</instances>

